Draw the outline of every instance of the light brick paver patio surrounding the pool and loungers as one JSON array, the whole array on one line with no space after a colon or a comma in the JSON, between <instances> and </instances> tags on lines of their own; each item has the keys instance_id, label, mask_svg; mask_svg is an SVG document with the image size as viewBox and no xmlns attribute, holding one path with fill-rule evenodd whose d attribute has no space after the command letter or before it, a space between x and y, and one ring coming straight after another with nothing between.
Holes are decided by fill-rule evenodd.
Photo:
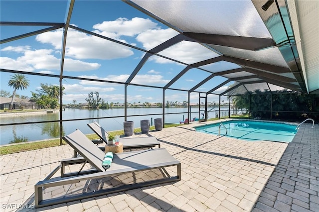
<instances>
[{"instance_id":1,"label":"light brick paver patio surrounding the pool and loungers","mask_svg":"<svg viewBox=\"0 0 319 212\"><path fill-rule=\"evenodd\" d=\"M63 145L2 155L0 211L319 211L318 124L301 125L289 144L203 134L193 130L195 124L149 132L181 162L181 181L41 209L34 208L34 185L61 159L71 158L73 149Z\"/></svg>"}]
</instances>

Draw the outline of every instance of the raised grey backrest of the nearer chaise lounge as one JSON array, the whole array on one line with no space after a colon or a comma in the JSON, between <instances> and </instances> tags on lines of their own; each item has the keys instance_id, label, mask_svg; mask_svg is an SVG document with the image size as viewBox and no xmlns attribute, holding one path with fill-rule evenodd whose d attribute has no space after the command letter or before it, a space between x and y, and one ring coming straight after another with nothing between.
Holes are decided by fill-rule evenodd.
<instances>
[{"instance_id":1,"label":"raised grey backrest of the nearer chaise lounge","mask_svg":"<svg viewBox=\"0 0 319 212\"><path fill-rule=\"evenodd\" d=\"M100 150L88 137L79 129L69 135L62 137L74 150L84 157L94 168L103 172L102 160L105 153Z\"/></svg>"}]
</instances>

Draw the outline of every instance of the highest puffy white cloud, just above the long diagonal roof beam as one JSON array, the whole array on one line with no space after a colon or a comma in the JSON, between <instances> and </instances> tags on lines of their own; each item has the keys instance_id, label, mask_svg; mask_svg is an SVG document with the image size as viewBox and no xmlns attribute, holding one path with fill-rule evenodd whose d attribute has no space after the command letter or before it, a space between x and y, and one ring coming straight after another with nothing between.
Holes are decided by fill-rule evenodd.
<instances>
[{"instance_id":1,"label":"highest puffy white cloud, just above the long diagonal roof beam","mask_svg":"<svg viewBox=\"0 0 319 212\"><path fill-rule=\"evenodd\" d=\"M121 35L134 36L149 29L157 28L157 23L151 19L134 17L132 20L127 18L118 18L114 21L103 21L95 24L94 29L114 33L118 37Z\"/></svg>"}]
</instances>

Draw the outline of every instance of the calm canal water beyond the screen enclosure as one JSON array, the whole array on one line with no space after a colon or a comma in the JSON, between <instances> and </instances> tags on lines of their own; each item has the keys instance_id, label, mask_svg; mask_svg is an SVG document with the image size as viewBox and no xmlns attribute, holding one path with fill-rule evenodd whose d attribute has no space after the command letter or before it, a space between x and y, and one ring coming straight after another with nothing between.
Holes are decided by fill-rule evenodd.
<instances>
[{"instance_id":1,"label":"calm canal water beyond the screen enclosure","mask_svg":"<svg viewBox=\"0 0 319 212\"><path fill-rule=\"evenodd\" d=\"M201 108L203 110L204 108ZM209 108L209 116L215 116L215 109ZM208 109L208 110L209 110ZM183 112L183 113L179 113ZM198 108L192 108L191 118L198 118ZM161 118L162 115L144 115L144 114L158 114L162 113L161 108L128 108L127 115L137 115L128 117L128 121L134 121L134 127L140 127L142 119L153 120ZM165 122L179 123L183 118L187 118L187 108L165 108L165 113L179 113L165 115ZM93 131L87 126L88 123L93 121L99 124L107 131L122 130L124 117L120 118L101 118L99 117L112 117L123 116L124 108L114 109L81 109L81 108L65 108L62 111L63 120L76 119L76 118L91 118L89 120L80 121L63 121L62 131L63 134L69 134L76 129L80 129L84 134L91 134ZM19 122L36 122L36 121L51 121L59 120L60 113L39 113L39 114L22 114L15 113L11 116L1 116L1 124L4 123L19 123ZM26 141L45 140L60 137L60 123L35 123L35 124L18 124L10 126L1 126L0 128L0 144L20 143Z\"/></svg>"}]
</instances>

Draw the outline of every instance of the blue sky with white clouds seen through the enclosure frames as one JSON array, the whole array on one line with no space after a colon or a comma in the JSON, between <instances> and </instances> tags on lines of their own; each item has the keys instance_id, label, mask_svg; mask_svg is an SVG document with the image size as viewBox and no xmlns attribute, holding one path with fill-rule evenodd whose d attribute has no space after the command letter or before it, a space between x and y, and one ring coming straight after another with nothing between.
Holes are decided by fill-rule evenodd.
<instances>
[{"instance_id":1,"label":"blue sky with white clouds seen through the enclosure frames","mask_svg":"<svg viewBox=\"0 0 319 212\"><path fill-rule=\"evenodd\" d=\"M1 21L30 22L64 22L67 1L34 0L16 1L1 0ZM101 34L112 39L152 49L178 33L157 20L125 2L98 0L78 0L74 4L70 23L85 30ZM1 26L1 40L23 33L39 30L42 26ZM68 30L66 56L63 74L72 77L86 77L117 82L125 82L144 56L139 51L127 46L107 41L74 29ZM0 67L26 72L60 74L60 57L62 29L45 32L36 36L3 43L0 47ZM195 57L194 57L195 53ZM161 55L188 64L218 56L198 43L180 42L160 52ZM221 62L205 67L214 71L238 68L237 65ZM164 86L173 79L185 65L181 65L158 56L152 56L139 71L132 83L140 85ZM0 73L1 90L12 92L7 86L11 73ZM171 88L190 89L210 74L198 69L191 69L176 81ZM59 85L58 78L26 75L30 86L19 90L17 94L31 97L31 91L39 89L40 83ZM208 91L225 78L215 77L196 91ZM106 102L124 103L124 86L84 80L64 79L65 95L63 104L85 103L89 92L98 91ZM229 84L220 88L225 90ZM226 99L226 98L224 98ZM162 90L129 86L128 102L162 101ZM165 101L187 101L187 92L167 90ZM198 103L198 94L191 95L191 103ZM218 96L210 96L208 101L217 102Z\"/></svg>"}]
</instances>

